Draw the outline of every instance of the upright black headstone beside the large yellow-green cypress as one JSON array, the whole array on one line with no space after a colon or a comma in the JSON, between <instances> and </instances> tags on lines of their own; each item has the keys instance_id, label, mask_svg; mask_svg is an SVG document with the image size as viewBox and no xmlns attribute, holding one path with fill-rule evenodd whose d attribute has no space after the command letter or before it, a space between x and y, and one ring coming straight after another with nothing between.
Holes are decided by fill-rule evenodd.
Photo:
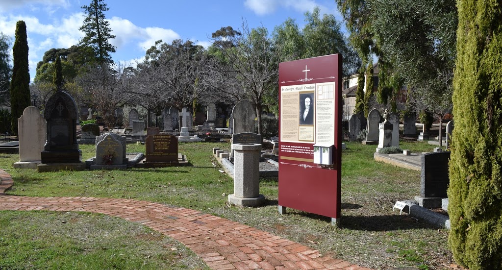
<instances>
[{"instance_id":1,"label":"upright black headstone beside the large yellow-green cypress","mask_svg":"<svg viewBox=\"0 0 502 270\"><path fill-rule=\"evenodd\" d=\"M420 196L446 198L450 179L448 162L450 152L426 153L422 156Z\"/></svg>"}]
</instances>

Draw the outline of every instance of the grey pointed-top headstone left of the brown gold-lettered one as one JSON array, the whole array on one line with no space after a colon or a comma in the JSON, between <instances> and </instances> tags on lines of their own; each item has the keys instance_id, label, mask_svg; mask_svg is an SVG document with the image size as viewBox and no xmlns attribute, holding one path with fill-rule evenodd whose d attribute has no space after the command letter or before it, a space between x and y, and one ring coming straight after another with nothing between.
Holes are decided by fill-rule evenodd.
<instances>
[{"instance_id":1,"label":"grey pointed-top headstone left of the brown gold-lettered one","mask_svg":"<svg viewBox=\"0 0 502 270\"><path fill-rule=\"evenodd\" d=\"M102 138L101 141L96 143L96 158L94 160L94 165L122 165L122 156L122 144L117 141L111 133L107 133L104 134L104 138Z\"/></svg>"}]
</instances>

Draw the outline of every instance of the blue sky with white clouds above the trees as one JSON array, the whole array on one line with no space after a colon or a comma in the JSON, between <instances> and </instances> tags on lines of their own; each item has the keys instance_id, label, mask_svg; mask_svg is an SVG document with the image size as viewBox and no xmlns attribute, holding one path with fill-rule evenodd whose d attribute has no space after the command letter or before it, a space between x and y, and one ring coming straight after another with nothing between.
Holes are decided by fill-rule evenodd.
<instances>
[{"instance_id":1,"label":"blue sky with white clouds above the trees","mask_svg":"<svg viewBox=\"0 0 502 270\"><path fill-rule=\"evenodd\" d=\"M31 80L44 53L51 48L69 48L83 33L78 30L83 10L90 0L0 0L0 31L13 37L16 22L27 26ZM141 61L148 48L162 39L192 40L210 45L211 33L221 27L241 29L242 19L249 28L265 26L272 33L286 19L296 19L303 28L304 13L314 7L321 14L340 15L334 0L106 0L105 13L112 34L110 43L117 47L115 62L134 64ZM14 40L13 40L14 41Z\"/></svg>"}]
</instances>

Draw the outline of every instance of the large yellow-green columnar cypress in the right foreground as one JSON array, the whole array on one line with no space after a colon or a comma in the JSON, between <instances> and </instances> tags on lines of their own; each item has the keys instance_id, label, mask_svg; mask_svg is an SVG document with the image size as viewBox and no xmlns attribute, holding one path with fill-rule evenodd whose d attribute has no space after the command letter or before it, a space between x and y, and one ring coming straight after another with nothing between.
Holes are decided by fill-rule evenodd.
<instances>
[{"instance_id":1,"label":"large yellow-green columnar cypress in the right foreground","mask_svg":"<svg viewBox=\"0 0 502 270\"><path fill-rule=\"evenodd\" d=\"M502 1L457 7L448 243L471 270L502 269Z\"/></svg>"}]
</instances>

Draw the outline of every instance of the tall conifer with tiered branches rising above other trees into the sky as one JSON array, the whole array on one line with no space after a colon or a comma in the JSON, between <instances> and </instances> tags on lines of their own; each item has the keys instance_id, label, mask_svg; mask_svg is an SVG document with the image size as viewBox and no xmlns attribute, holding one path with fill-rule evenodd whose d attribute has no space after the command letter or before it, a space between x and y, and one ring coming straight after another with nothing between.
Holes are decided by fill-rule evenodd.
<instances>
[{"instance_id":1,"label":"tall conifer with tiered branches rising above other trees into the sky","mask_svg":"<svg viewBox=\"0 0 502 270\"><path fill-rule=\"evenodd\" d=\"M89 46L94 49L94 55L99 64L112 63L110 53L116 48L108 40L114 39L111 35L110 23L106 20L104 12L109 8L103 0L92 0L89 6L82 6L84 10L84 24L79 28L85 33L79 45Z\"/></svg>"}]
</instances>

